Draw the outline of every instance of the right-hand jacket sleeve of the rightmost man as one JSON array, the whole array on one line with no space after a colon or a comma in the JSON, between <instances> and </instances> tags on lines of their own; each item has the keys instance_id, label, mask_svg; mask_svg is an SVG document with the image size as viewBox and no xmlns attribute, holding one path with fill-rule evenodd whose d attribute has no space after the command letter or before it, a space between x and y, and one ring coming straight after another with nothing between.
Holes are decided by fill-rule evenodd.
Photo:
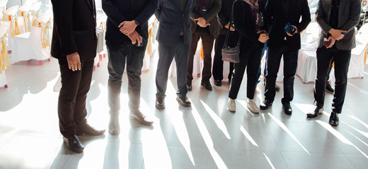
<instances>
[{"instance_id":1,"label":"right-hand jacket sleeve of the rightmost man","mask_svg":"<svg viewBox=\"0 0 368 169\"><path fill-rule=\"evenodd\" d=\"M351 31L354 27L358 25L360 19L360 0L350 1L350 18L347 22L340 28L340 30Z\"/></svg>"}]
</instances>

